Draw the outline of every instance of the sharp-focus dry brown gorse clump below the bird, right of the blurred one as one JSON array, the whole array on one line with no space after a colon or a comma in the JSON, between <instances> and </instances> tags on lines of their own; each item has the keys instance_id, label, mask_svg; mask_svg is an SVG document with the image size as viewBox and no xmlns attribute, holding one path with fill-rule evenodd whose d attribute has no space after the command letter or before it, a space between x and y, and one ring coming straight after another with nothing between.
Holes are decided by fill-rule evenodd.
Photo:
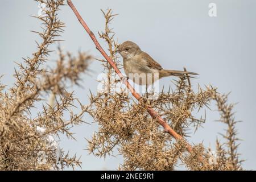
<instances>
[{"instance_id":1,"label":"sharp-focus dry brown gorse clump below the bird, right of the blurred one","mask_svg":"<svg viewBox=\"0 0 256 182\"><path fill-rule=\"evenodd\" d=\"M104 13L105 31L100 33L109 46L109 54L115 64L121 68L115 50L118 48L114 40L114 32L109 23L115 15L112 10ZM156 100L149 100L154 93L143 95L138 102L128 94L127 90L113 92L118 82L117 76L109 63L103 62L107 81L103 92L90 96L91 105L88 113L92 115L99 129L92 139L88 140L90 153L106 157L113 155L117 147L124 162L120 169L125 170L173 170L178 160L189 170L240 170L241 160L237 153L236 121L233 117L233 105L227 103L227 96L219 94L213 86L194 91L189 77L181 77L175 81L175 88L159 93ZM152 97L151 97L152 98ZM150 106L164 118L168 124L182 137L188 137L190 126L200 127L205 118L196 118L193 113L210 107L215 101L221 115L220 121L228 127L223 135L225 143L216 142L217 154L207 152L203 143L193 147L193 152L186 152L185 139L174 140L164 132L162 126L147 113ZM192 136L190 136L192 137ZM203 140L203 139L202 139ZM203 160L200 160L202 159Z\"/></svg>"}]
</instances>

